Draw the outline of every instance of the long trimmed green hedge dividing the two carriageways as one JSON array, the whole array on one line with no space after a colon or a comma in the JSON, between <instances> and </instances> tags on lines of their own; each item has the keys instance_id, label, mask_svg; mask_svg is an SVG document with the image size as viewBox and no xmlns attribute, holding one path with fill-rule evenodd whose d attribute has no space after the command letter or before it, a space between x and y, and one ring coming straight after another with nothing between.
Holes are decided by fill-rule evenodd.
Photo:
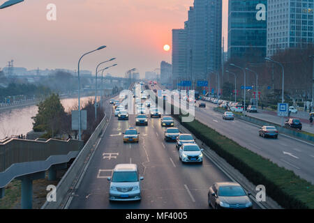
<instances>
[{"instance_id":1,"label":"long trimmed green hedge dividing the two carriageways","mask_svg":"<svg viewBox=\"0 0 314 223\"><path fill-rule=\"evenodd\" d=\"M293 171L279 167L197 120L183 123L181 115L173 116L248 180L255 185L264 185L267 195L283 208L314 208L314 185L301 179Z\"/></svg>"}]
</instances>

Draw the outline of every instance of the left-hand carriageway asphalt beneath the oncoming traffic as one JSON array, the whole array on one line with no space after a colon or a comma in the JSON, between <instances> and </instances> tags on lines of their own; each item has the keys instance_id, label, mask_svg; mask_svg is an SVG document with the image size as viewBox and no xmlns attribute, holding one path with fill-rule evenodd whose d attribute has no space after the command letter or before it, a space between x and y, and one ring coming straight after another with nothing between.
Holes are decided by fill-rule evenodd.
<instances>
[{"instance_id":1,"label":"left-hand carriageway asphalt beneath the oncoming traffic","mask_svg":"<svg viewBox=\"0 0 314 223\"><path fill-rule=\"evenodd\" d=\"M181 164L175 143L164 140L160 118L149 118L148 126L135 126L136 115L118 121L112 105L105 102L105 107L110 122L67 208L209 208L209 187L231 181L205 156L203 164ZM140 132L138 144L124 144L122 133L129 127ZM137 164L144 176L142 201L109 201L107 177L121 163ZM253 208L258 208L256 203Z\"/></svg>"}]
</instances>

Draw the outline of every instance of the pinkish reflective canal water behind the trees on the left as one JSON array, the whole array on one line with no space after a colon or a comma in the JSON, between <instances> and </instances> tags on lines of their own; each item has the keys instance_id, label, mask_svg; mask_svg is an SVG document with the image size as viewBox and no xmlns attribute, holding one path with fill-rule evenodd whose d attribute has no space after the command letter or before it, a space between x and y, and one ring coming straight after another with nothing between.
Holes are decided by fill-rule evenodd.
<instances>
[{"instance_id":1,"label":"pinkish reflective canal water behind the trees on the left","mask_svg":"<svg viewBox=\"0 0 314 223\"><path fill-rule=\"evenodd\" d=\"M93 99L93 97L81 98L81 106L85 105L89 99ZM70 112L74 106L77 106L77 98L63 99L61 103L66 112ZM33 119L31 117L35 116L37 112L38 107L36 105L1 111L0 139L11 135L27 134L33 129Z\"/></svg>"}]
</instances>

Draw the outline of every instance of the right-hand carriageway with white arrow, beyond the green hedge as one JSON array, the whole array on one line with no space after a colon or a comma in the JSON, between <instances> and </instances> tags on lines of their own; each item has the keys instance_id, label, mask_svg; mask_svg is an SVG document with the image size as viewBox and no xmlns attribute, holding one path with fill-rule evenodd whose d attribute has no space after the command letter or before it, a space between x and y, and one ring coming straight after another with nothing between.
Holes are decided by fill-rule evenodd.
<instances>
[{"instance_id":1,"label":"right-hand carriageway with white arrow, beyond the green hedge","mask_svg":"<svg viewBox=\"0 0 314 223\"><path fill-rule=\"evenodd\" d=\"M160 86L154 86L160 89ZM195 119L220 134L236 141L251 151L266 157L280 167L294 171L295 174L314 183L314 145L304 141L285 137L264 139L259 137L257 125L234 118L234 121L223 120L221 113L214 112L216 105L206 102L206 108L195 106Z\"/></svg>"}]
</instances>

